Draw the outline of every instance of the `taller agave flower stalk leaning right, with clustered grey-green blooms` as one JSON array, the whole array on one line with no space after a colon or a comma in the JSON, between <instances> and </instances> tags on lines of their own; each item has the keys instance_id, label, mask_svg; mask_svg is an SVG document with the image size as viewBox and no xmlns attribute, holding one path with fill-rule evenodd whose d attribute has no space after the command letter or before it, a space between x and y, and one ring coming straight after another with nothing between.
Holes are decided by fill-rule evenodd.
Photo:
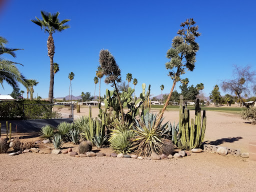
<instances>
[{"instance_id":1,"label":"taller agave flower stalk leaning right, with clustered grey-green blooms","mask_svg":"<svg viewBox=\"0 0 256 192\"><path fill-rule=\"evenodd\" d=\"M174 86L180 81L180 75L185 73L185 69L189 71L194 69L195 55L199 50L199 45L195 42L195 38L200 36L200 33L197 31L198 26L194 26L194 24L195 21L193 18L186 19L185 22L182 22L180 26L183 28L177 31L178 35L172 39L171 47L167 50L166 57L170 61L165 63L165 68L170 70L168 76L173 80L173 84L166 102L157 117L155 126L159 125Z\"/></svg>"}]
</instances>

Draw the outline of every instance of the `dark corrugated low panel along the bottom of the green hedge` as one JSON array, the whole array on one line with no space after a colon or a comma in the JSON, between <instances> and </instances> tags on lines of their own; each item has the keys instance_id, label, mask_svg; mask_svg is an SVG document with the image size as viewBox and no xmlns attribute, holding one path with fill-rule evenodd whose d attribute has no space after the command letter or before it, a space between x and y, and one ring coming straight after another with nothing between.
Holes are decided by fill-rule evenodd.
<instances>
[{"instance_id":1,"label":"dark corrugated low panel along the bottom of the green hedge","mask_svg":"<svg viewBox=\"0 0 256 192\"><path fill-rule=\"evenodd\" d=\"M73 122L73 118L59 118L59 119L32 119L32 120L8 120L11 123L11 132L25 133L25 132L39 132L41 127L45 125L51 125L56 127L60 122ZM6 133L6 121L0 120L1 123L1 134Z\"/></svg>"}]
</instances>

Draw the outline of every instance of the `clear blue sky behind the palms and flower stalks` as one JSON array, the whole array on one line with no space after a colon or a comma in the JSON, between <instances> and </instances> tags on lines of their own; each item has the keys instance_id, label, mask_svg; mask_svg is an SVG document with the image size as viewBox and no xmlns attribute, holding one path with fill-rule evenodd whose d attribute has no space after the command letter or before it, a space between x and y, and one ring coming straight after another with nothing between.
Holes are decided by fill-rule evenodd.
<instances>
[{"instance_id":1,"label":"clear blue sky behind the palms and flower stalks","mask_svg":"<svg viewBox=\"0 0 256 192\"><path fill-rule=\"evenodd\" d=\"M151 84L151 94L158 95L161 84L163 93L172 86L164 65L166 51L179 24L192 17L201 32L196 40L200 49L194 70L182 78L189 79L188 85L202 82L208 95L221 79L231 77L232 64L250 64L255 69L255 5L253 0L8 0L0 9L0 35L9 41L7 47L24 49L16 51L16 58L4 56L22 63L18 68L26 78L39 82L34 96L46 98L49 89L48 35L30 21L34 16L41 18L40 10L59 11L61 20L71 19L70 28L53 34L53 59L60 67L54 78L54 97L68 95L71 71L75 74L72 94L88 91L94 95L93 77L102 48L115 57L123 80L128 72L137 78L135 93L146 83ZM3 85L0 94L9 94L12 88ZM101 80L101 95L106 88L112 89ZM22 85L20 89L25 90Z\"/></svg>"}]
</instances>

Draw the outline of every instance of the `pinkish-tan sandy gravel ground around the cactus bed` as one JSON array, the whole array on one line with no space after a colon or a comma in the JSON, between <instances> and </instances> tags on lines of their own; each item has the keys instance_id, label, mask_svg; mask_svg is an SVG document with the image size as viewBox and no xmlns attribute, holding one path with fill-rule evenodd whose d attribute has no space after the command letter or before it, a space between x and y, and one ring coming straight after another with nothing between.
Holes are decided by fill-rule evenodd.
<instances>
[{"instance_id":1,"label":"pinkish-tan sandy gravel ground around the cactus bed","mask_svg":"<svg viewBox=\"0 0 256 192\"><path fill-rule=\"evenodd\" d=\"M88 108L81 109L79 115L85 115ZM93 109L92 115L97 111ZM166 111L164 116L165 121L178 121L178 111ZM248 142L256 139L256 125L245 123L238 114L207 111L206 116L206 143L247 152ZM158 161L0 154L0 164L0 191L256 191L256 161L208 152Z\"/></svg>"}]
</instances>

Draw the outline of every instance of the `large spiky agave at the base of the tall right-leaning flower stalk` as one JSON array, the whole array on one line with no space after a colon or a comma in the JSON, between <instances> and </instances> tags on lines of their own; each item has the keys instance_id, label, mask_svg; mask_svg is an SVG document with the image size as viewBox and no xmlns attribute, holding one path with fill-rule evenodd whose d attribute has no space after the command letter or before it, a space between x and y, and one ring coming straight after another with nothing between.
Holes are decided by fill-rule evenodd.
<instances>
[{"instance_id":1,"label":"large spiky agave at the base of the tall right-leaning flower stalk","mask_svg":"<svg viewBox=\"0 0 256 192\"><path fill-rule=\"evenodd\" d=\"M161 125L163 120L161 118L159 125L155 126L156 116L156 114L147 112L142 118L135 119L136 124L133 126L136 134L133 139L135 154L149 156L152 152L156 154L162 152L161 145L167 122Z\"/></svg>"}]
</instances>

